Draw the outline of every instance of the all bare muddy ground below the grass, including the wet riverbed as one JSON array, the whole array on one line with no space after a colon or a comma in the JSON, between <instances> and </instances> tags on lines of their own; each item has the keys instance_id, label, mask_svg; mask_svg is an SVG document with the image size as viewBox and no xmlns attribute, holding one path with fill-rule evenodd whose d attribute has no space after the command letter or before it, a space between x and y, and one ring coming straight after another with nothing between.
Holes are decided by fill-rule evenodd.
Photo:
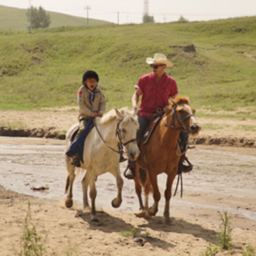
<instances>
[{"instance_id":1,"label":"all bare muddy ground below the grass, including the wet riverbed","mask_svg":"<svg viewBox=\"0 0 256 256\"><path fill-rule=\"evenodd\" d=\"M255 131L251 129L254 119L198 119L201 125L218 129L202 130L198 139L201 142L195 142L196 148L188 152L195 167L183 175L183 198L178 193L172 199L172 222L166 224L162 216L164 175L160 176L160 210L150 220L133 215L139 211L137 196L133 181L125 178L123 203L119 209L111 207L116 183L109 175L98 177L96 183L98 223L91 223L89 213L82 210L82 177L75 182L74 208L63 207L64 140L46 139L42 134L51 131L63 136L77 121L75 114L48 110L0 112L0 116L1 126L19 122L17 131L28 129L37 131L33 136L44 137L5 137L3 133L13 129L8 125L1 128L0 255L20 252L28 202L37 234L46 238L45 255L206 255L209 247L218 247L220 213L224 211L231 217L233 247L230 251L218 249L216 255L243 255L248 246L256 248L256 149ZM242 129L244 125L250 127L249 131ZM122 171L124 168L125 163L121 164ZM43 182L49 184L49 190L30 189ZM123 236L133 227L135 236Z\"/></svg>"}]
</instances>

